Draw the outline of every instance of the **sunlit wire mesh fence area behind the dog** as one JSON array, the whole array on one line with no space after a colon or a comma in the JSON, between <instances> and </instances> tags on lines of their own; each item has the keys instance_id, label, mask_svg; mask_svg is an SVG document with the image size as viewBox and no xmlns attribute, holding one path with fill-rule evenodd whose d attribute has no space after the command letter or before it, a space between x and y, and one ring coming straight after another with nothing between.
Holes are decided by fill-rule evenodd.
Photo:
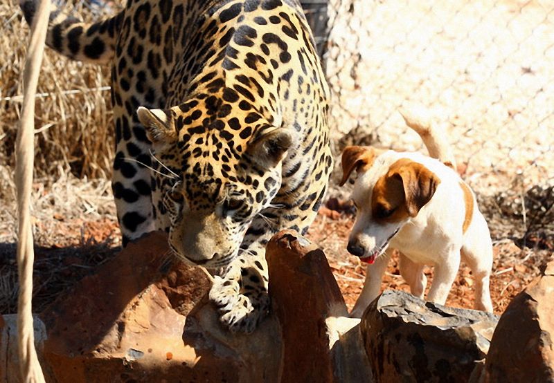
<instances>
[{"instance_id":1,"label":"sunlit wire mesh fence area behind the dog","mask_svg":"<svg viewBox=\"0 0 554 383\"><path fill-rule=\"evenodd\" d=\"M398 112L442 125L484 194L554 185L554 2L331 0L335 136L420 149Z\"/></svg>"}]
</instances>

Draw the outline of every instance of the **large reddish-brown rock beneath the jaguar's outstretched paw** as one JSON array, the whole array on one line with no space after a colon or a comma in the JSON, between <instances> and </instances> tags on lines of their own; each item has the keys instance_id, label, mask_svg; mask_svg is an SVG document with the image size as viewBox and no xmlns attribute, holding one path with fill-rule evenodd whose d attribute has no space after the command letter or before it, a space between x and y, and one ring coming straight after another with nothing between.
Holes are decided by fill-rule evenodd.
<instances>
[{"instance_id":1,"label":"large reddish-brown rock beneath the jaguar's outstretched paw","mask_svg":"<svg viewBox=\"0 0 554 383\"><path fill-rule=\"evenodd\" d=\"M148 234L44 310L57 382L276 381L276 319L231 335L207 304L210 279L168 254L166 234Z\"/></svg>"}]
</instances>

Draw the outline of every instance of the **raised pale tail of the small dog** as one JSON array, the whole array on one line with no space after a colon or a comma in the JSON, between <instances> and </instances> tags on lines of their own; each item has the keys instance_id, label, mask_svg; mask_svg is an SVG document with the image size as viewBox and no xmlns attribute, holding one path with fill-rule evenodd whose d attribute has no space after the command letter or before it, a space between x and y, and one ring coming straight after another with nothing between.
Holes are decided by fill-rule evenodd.
<instances>
[{"instance_id":1,"label":"raised pale tail of the small dog","mask_svg":"<svg viewBox=\"0 0 554 383\"><path fill-rule=\"evenodd\" d=\"M429 151L429 156L437 158L452 169L456 169L452 147L448 143L444 132L436 126L427 111L420 108L403 109L400 111L400 115L404 118L406 125L420 135L427 151Z\"/></svg>"}]
</instances>

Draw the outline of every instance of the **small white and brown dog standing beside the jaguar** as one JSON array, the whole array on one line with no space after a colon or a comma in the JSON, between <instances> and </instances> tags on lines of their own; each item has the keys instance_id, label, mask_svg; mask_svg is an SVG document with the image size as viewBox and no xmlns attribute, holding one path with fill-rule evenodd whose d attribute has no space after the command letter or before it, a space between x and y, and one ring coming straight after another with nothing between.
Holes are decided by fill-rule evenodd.
<instances>
[{"instance_id":1,"label":"small white and brown dog standing beside the jaguar","mask_svg":"<svg viewBox=\"0 0 554 383\"><path fill-rule=\"evenodd\" d=\"M356 222L348 252L369 263L352 317L361 317L378 295L391 249L399 250L400 274L411 293L423 298L424 265L434 265L427 300L444 304L460 261L475 279L475 308L492 312L489 278L492 242L470 187L452 169L451 151L431 129L404 117L431 156L420 153L347 147L342 153L343 185L357 171L352 200ZM446 165L445 165L446 164Z\"/></svg>"}]
</instances>

